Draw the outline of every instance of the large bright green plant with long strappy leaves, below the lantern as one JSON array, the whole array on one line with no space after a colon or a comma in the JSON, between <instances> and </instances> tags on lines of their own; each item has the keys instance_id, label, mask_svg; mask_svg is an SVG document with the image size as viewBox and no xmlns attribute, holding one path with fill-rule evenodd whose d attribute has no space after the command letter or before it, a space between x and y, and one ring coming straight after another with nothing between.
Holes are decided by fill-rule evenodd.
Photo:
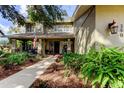
<instances>
[{"instance_id":1,"label":"large bright green plant with long strappy leaves, below the lantern","mask_svg":"<svg viewBox=\"0 0 124 93\"><path fill-rule=\"evenodd\" d=\"M81 73L92 81L93 87L124 87L124 52L117 48L90 50Z\"/></svg>"}]
</instances>

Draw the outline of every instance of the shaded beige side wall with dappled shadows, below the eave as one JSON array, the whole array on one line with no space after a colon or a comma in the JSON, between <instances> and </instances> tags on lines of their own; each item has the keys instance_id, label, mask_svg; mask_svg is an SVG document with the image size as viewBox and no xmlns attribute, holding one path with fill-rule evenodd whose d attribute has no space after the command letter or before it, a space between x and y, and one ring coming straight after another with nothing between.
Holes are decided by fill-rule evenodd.
<instances>
[{"instance_id":1,"label":"shaded beige side wall with dappled shadows, below the eave","mask_svg":"<svg viewBox=\"0 0 124 93\"><path fill-rule=\"evenodd\" d=\"M92 9L92 12L91 9L92 8L85 12L85 14L82 14L82 16L74 22L76 53L85 53L89 47L93 46L92 42L93 32L95 30L95 7Z\"/></svg>"}]
</instances>

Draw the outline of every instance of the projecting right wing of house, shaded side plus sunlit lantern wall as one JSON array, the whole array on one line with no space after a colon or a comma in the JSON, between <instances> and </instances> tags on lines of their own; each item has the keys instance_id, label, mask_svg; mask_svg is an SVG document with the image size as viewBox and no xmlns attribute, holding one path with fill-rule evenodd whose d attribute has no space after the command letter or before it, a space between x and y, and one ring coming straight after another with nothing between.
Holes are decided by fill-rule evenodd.
<instances>
[{"instance_id":1,"label":"projecting right wing of house, shaded side plus sunlit lantern wall","mask_svg":"<svg viewBox=\"0 0 124 93\"><path fill-rule=\"evenodd\" d=\"M124 6L81 5L74 12L75 52L124 46ZM114 22L114 24L113 24ZM111 27L109 27L109 25Z\"/></svg>"}]
</instances>

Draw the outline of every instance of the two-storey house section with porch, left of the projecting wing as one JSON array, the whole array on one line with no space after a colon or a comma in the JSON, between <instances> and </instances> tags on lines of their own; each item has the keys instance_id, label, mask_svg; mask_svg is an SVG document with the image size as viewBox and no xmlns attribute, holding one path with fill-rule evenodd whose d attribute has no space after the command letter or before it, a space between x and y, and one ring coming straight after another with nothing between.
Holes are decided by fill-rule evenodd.
<instances>
[{"instance_id":1,"label":"two-storey house section with porch, left of the projecting wing","mask_svg":"<svg viewBox=\"0 0 124 93\"><path fill-rule=\"evenodd\" d=\"M25 28L25 29L24 29ZM38 54L61 54L74 51L73 21L71 18L57 21L53 28L45 28L42 24L27 22L23 33L9 35L12 51L17 50L17 40L21 42L19 51L29 51L34 48L34 39ZM28 43L30 42L30 43Z\"/></svg>"}]
</instances>

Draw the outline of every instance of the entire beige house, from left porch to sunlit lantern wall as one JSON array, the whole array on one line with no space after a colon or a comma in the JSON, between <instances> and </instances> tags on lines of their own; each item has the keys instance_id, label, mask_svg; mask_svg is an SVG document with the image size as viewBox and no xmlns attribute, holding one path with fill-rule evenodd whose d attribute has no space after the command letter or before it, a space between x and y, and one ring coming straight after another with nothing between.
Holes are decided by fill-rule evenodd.
<instances>
[{"instance_id":1,"label":"entire beige house, from left porch to sunlit lantern wall","mask_svg":"<svg viewBox=\"0 0 124 93\"><path fill-rule=\"evenodd\" d=\"M100 44L122 47L123 11L124 6L117 5L80 5L76 7L71 19L56 22L53 29L44 29L42 24L33 26L27 23L24 33L8 37L12 41L13 51L16 50L16 40L23 41L21 50L26 50L29 49L26 42L36 37L37 52L42 55L59 54L63 50L86 53L91 47L99 49Z\"/></svg>"}]
</instances>

